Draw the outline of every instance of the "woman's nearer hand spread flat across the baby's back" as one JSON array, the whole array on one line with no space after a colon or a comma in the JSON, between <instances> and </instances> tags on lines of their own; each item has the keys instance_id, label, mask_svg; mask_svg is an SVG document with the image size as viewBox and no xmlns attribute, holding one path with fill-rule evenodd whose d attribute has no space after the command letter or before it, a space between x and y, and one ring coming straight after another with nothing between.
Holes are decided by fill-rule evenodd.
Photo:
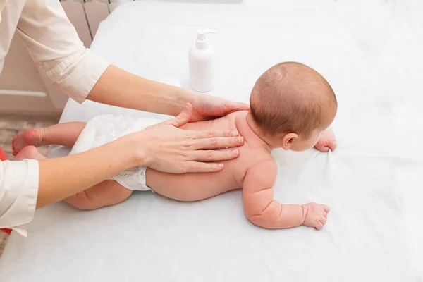
<instances>
[{"instance_id":1,"label":"woman's nearer hand spread flat across the baby's back","mask_svg":"<svg viewBox=\"0 0 423 282\"><path fill-rule=\"evenodd\" d=\"M142 146L140 165L168 173L213 172L223 168L221 161L238 157L238 149L215 150L243 145L237 131L180 129L191 116L187 104L176 118L133 133Z\"/></svg>"}]
</instances>

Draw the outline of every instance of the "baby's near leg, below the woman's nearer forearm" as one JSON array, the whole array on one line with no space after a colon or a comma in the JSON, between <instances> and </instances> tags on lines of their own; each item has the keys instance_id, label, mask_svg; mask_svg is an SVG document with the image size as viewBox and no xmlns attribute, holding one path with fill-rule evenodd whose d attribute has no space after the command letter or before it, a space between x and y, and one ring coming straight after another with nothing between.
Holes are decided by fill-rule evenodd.
<instances>
[{"instance_id":1,"label":"baby's near leg, below the woman's nearer forearm","mask_svg":"<svg viewBox=\"0 0 423 282\"><path fill-rule=\"evenodd\" d=\"M124 188L114 180L105 180L65 199L78 209L99 209L126 200L133 191Z\"/></svg>"}]
</instances>

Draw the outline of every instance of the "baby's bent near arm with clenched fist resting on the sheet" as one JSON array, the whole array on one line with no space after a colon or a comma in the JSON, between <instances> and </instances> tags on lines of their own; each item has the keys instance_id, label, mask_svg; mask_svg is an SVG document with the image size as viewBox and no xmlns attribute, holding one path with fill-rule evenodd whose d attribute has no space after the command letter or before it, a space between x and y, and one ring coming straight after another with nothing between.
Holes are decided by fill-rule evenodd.
<instances>
[{"instance_id":1,"label":"baby's bent near arm with clenched fist resting on the sheet","mask_svg":"<svg viewBox=\"0 0 423 282\"><path fill-rule=\"evenodd\" d=\"M317 230L326 223L329 207L324 204L280 204L273 200L276 180L274 160L265 161L247 171L243 183L245 215L257 226L268 229L293 228L304 224Z\"/></svg>"}]
</instances>

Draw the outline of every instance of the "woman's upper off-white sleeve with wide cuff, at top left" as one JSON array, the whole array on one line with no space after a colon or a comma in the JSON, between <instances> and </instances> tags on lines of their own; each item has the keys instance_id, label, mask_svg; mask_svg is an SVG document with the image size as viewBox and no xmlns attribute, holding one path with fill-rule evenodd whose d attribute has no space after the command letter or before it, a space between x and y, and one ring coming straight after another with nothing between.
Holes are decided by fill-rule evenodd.
<instances>
[{"instance_id":1,"label":"woman's upper off-white sleeve with wide cuff, at top left","mask_svg":"<svg viewBox=\"0 0 423 282\"><path fill-rule=\"evenodd\" d=\"M16 32L40 73L82 103L109 66L84 47L58 0L26 1Z\"/></svg>"}]
</instances>

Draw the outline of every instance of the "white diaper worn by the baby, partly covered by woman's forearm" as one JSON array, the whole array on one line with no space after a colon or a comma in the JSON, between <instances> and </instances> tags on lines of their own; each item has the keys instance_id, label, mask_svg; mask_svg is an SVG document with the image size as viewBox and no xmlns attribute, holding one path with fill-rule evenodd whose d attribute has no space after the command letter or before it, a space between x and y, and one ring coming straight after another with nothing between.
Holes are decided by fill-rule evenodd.
<instances>
[{"instance_id":1,"label":"white diaper worn by the baby, partly covered by woman's forearm","mask_svg":"<svg viewBox=\"0 0 423 282\"><path fill-rule=\"evenodd\" d=\"M102 146L119 137L142 131L149 125L157 123L161 123L161 121L153 118L135 118L112 114L97 116L85 125L70 154L78 154ZM118 173L111 180L115 180L128 190L150 190L145 185L145 170L145 166L137 166Z\"/></svg>"}]
</instances>

